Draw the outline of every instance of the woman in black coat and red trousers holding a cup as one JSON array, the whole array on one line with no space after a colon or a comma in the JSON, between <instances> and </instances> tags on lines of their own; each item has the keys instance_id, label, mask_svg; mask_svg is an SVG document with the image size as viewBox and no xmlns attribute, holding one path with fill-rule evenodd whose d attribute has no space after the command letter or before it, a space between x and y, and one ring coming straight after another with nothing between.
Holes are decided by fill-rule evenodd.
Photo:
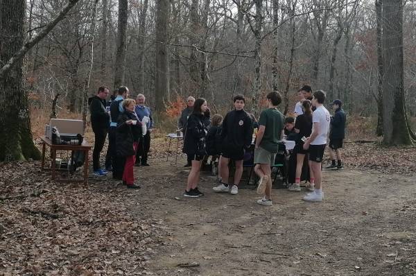
<instances>
[{"instance_id":1,"label":"woman in black coat and red trousers holding a cup","mask_svg":"<svg viewBox=\"0 0 416 276\"><path fill-rule=\"evenodd\" d=\"M123 184L128 188L139 189L135 183L134 166L137 146L141 139L141 122L135 112L136 101L126 98L121 105L123 112L119 115L116 129L116 151L120 157L125 157Z\"/></svg>"}]
</instances>

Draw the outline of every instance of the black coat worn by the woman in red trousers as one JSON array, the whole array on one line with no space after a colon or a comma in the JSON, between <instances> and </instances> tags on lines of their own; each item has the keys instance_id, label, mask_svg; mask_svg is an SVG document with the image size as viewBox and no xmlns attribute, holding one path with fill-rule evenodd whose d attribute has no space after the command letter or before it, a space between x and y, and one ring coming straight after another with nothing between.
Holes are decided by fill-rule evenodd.
<instances>
[{"instance_id":1,"label":"black coat worn by the woman in red trousers","mask_svg":"<svg viewBox=\"0 0 416 276\"><path fill-rule=\"evenodd\" d=\"M125 121L138 120L135 113L124 111L119 115L116 128L116 151L119 156L135 155L133 142L138 142L141 137L141 126L128 125Z\"/></svg>"}]
</instances>

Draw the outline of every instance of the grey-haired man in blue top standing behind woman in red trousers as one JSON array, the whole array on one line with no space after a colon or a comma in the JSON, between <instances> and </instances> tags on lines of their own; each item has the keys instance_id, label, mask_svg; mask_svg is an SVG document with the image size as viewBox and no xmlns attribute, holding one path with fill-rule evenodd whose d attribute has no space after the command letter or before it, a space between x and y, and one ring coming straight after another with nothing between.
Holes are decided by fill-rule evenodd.
<instances>
[{"instance_id":1,"label":"grey-haired man in blue top standing behind woman in red trousers","mask_svg":"<svg viewBox=\"0 0 416 276\"><path fill-rule=\"evenodd\" d=\"M149 121L146 123L146 135L143 135L139 141L139 148L137 148L136 154L136 166L150 166L148 164L148 152L150 150L150 133L153 131L153 117L152 112L149 107L144 105L146 97L144 94L139 94L136 97L136 107L135 112L140 121L143 121L143 118L146 116L149 118Z\"/></svg>"}]
</instances>

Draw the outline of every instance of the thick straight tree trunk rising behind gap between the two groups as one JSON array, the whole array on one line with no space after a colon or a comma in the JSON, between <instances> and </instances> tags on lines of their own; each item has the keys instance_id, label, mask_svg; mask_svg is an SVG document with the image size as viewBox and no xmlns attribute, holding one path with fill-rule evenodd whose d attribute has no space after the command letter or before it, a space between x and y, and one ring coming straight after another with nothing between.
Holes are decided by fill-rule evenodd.
<instances>
[{"instance_id":1,"label":"thick straight tree trunk rising behind gap between the two groups","mask_svg":"<svg viewBox=\"0 0 416 276\"><path fill-rule=\"evenodd\" d=\"M168 0L156 1L156 62L155 62L155 103L158 113L164 110L164 103L169 99L168 68L168 21L171 3Z\"/></svg>"}]
</instances>

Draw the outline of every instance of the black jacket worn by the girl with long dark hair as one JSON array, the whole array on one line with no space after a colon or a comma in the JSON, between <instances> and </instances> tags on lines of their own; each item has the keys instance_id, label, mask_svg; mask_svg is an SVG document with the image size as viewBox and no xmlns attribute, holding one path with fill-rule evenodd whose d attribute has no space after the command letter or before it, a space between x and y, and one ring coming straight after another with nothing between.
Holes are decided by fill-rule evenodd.
<instances>
[{"instance_id":1,"label":"black jacket worn by the girl with long dark hair","mask_svg":"<svg viewBox=\"0 0 416 276\"><path fill-rule=\"evenodd\" d=\"M187 155L207 154L207 126L204 124L205 115L192 113L187 122L187 135L184 138L183 152Z\"/></svg>"}]
</instances>

